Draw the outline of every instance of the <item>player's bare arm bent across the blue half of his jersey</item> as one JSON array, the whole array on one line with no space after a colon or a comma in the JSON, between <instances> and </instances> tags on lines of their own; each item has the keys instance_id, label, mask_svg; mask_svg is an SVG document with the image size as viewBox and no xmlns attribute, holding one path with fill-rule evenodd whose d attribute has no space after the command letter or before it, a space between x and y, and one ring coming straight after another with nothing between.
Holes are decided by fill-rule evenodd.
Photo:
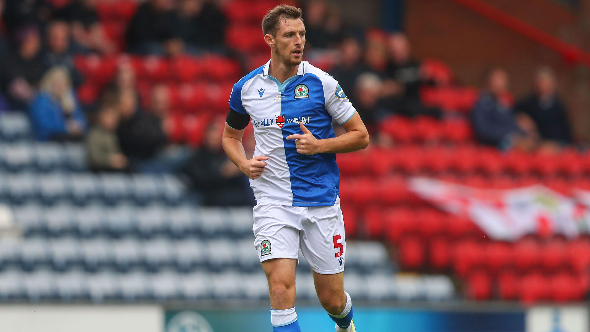
<instances>
[{"instance_id":1,"label":"player's bare arm bent across the blue half of his jersey","mask_svg":"<svg viewBox=\"0 0 590 332\"><path fill-rule=\"evenodd\" d=\"M346 134L335 138L316 139L303 123L300 122L299 126L303 134L289 135L287 139L295 139L295 147L300 154L340 154L364 149L369 145L369 133L356 112L342 124Z\"/></svg>"}]
</instances>

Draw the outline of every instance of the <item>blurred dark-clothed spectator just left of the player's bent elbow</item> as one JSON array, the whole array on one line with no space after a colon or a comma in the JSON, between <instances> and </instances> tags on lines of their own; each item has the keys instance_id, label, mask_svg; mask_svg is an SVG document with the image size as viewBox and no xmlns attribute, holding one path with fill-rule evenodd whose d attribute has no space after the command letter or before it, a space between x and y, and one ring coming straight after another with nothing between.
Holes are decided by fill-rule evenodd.
<instances>
[{"instance_id":1,"label":"blurred dark-clothed spectator just left of the player's bent elbow","mask_svg":"<svg viewBox=\"0 0 590 332\"><path fill-rule=\"evenodd\" d=\"M231 162L221 147L224 121L213 121L205 131L201 148L184 168L192 187L208 206L254 206L248 178Z\"/></svg>"}]
</instances>

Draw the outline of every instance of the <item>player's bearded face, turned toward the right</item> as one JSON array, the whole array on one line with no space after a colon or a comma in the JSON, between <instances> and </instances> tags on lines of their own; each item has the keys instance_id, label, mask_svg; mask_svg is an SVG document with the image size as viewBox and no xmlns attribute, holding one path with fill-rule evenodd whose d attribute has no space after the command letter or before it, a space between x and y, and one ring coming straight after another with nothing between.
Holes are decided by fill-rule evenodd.
<instances>
[{"instance_id":1,"label":"player's bearded face, turned toward the right","mask_svg":"<svg viewBox=\"0 0 590 332\"><path fill-rule=\"evenodd\" d=\"M297 66L303 58L305 26L301 19L281 19L274 37L273 52L288 66Z\"/></svg>"}]
</instances>

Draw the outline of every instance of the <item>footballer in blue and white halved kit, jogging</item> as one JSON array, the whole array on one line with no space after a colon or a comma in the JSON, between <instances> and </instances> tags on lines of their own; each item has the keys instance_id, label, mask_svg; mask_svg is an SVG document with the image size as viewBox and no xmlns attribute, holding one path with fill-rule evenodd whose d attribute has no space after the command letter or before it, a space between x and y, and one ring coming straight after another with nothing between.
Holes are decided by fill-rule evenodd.
<instances>
[{"instance_id":1,"label":"footballer in blue and white halved kit, jogging","mask_svg":"<svg viewBox=\"0 0 590 332\"><path fill-rule=\"evenodd\" d=\"M278 5L262 21L271 58L235 83L223 134L228 157L250 178L255 248L268 279L274 332L300 332L295 312L299 250L336 331L356 331L344 291L346 241L336 154L364 149L369 134L336 80L302 61L301 9ZM254 126L248 160L244 128ZM332 121L346 133L335 137Z\"/></svg>"}]
</instances>

